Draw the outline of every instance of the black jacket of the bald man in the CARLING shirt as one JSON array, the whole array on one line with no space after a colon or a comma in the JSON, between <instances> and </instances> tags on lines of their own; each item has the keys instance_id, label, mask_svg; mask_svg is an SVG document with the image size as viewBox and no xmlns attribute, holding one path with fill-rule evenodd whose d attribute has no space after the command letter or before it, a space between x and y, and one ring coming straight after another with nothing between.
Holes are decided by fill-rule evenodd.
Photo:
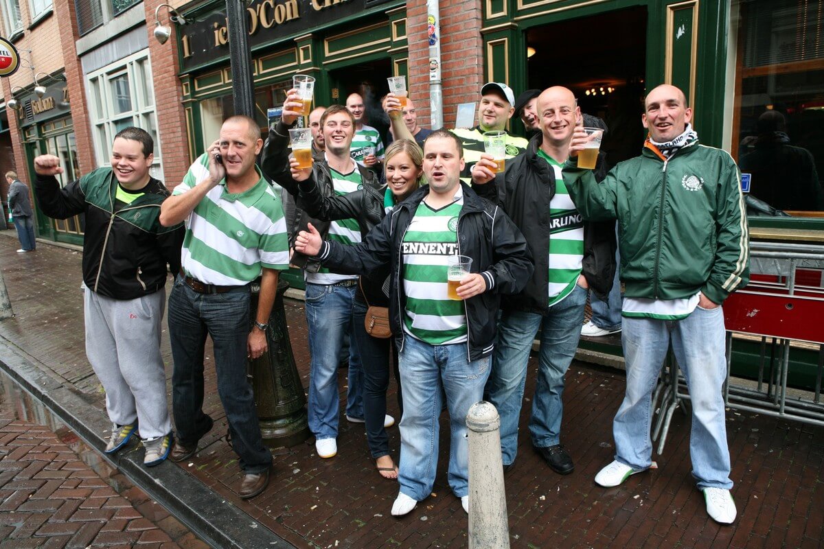
<instances>
[{"instance_id":1,"label":"black jacket of the bald man in the CARLING shirt","mask_svg":"<svg viewBox=\"0 0 824 549\"><path fill-rule=\"evenodd\" d=\"M533 136L527 151L511 161L494 182L473 185L482 197L496 201L522 230L527 239L535 272L518 295L506 300L505 309L546 314L549 295L550 200L555 196L555 174L550 165L538 156L543 135ZM596 174L602 170L599 156ZM496 194L497 191L497 194ZM595 294L606 300L616 272L616 235L613 221L584 222L583 276Z\"/></svg>"}]
</instances>

